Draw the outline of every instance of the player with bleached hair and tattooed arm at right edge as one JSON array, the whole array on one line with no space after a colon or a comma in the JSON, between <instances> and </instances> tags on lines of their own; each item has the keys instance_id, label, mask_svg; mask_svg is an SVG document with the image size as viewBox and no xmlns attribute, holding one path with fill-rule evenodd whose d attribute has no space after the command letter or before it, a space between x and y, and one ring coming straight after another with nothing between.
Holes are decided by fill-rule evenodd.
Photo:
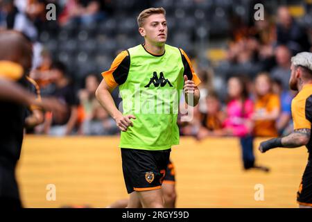
<instances>
[{"instance_id":1,"label":"player with bleached hair and tattooed arm at right edge","mask_svg":"<svg viewBox=\"0 0 312 222\"><path fill-rule=\"evenodd\" d=\"M261 142L259 151L265 153L271 148L296 148L304 145L308 148L309 159L297 192L297 203L300 207L312 207L312 53L298 53L291 58L291 63L289 86L299 91L291 103L294 131L286 137Z\"/></svg>"}]
</instances>

